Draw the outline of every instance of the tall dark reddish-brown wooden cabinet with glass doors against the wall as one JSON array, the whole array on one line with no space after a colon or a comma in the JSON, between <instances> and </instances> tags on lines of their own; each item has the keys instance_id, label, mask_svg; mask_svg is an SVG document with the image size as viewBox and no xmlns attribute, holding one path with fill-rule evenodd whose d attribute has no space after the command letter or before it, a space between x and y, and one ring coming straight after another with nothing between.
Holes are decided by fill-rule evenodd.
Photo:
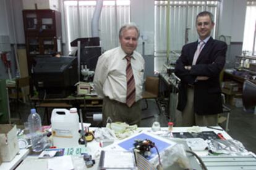
<instances>
[{"instance_id":1,"label":"tall dark reddish-brown wooden cabinet with glass doors against the wall","mask_svg":"<svg viewBox=\"0 0 256 170\"><path fill-rule=\"evenodd\" d=\"M61 13L55 10L23 10L28 71L33 57L61 52Z\"/></svg>"}]
</instances>

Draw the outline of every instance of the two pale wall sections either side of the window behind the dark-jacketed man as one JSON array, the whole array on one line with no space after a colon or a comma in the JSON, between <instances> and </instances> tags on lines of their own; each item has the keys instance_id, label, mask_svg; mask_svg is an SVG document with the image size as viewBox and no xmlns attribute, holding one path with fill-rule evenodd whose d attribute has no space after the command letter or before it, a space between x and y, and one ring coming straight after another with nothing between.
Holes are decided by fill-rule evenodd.
<instances>
[{"instance_id":1,"label":"two pale wall sections either side of the window behind the dark-jacketed man","mask_svg":"<svg viewBox=\"0 0 256 170\"><path fill-rule=\"evenodd\" d=\"M242 42L246 13L245 0L222 0L218 36L231 36L231 42ZM139 25L141 34L146 37L145 55L153 55L154 49L154 0L131 0L131 21ZM142 39L137 51L142 53Z\"/></svg>"}]
</instances>

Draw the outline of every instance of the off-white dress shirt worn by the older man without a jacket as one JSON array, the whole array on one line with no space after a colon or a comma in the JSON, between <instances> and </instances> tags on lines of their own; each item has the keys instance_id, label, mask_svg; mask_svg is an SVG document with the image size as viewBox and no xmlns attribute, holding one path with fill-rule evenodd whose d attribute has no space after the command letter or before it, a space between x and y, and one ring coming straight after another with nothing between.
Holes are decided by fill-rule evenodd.
<instances>
[{"instance_id":1,"label":"off-white dress shirt worn by the older man without a jacket","mask_svg":"<svg viewBox=\"0 0 256 170\"><path fill-rule=\"evenodd\" d=\"M126 55L119 46L106 51L99 57L93 83L100 97L109 97L111 100L126 103ZM134 51L131 64L136 88L135 101L137 102L142 99L145 61L142 55Z\"/></svg>"}]
</instances>

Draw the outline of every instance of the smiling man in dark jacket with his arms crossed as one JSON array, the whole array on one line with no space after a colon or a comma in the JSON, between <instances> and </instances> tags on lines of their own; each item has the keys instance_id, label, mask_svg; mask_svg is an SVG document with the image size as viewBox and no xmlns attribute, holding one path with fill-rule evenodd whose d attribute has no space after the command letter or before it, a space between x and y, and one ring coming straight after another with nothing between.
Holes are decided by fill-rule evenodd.
<instances>
[{"instance_id":1,"label":"smiling man in dark jacket with his arms crossed","mask_svg":"<svg viewBox=\"0 0 256 170\"><path fill-rule=\"evenodd\" d=\"M182 47L175 74L181 79L177 110L182 126L216 126L222 110L220 72L225 64L227 45L211 38L213 14L197 15L198 41Z\"/></svg>"}]
</instances>

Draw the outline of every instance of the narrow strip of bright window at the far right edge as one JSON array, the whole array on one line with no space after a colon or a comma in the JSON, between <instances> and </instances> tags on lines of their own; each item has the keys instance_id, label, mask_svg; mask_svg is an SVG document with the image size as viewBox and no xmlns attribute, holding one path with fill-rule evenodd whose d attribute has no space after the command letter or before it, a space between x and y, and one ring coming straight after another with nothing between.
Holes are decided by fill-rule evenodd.
<instances>
[{"instance_id":1,"label":"narrow strip of bright window at the far right edge","mask_svg":"<svg viewBox=\"0 0 256 170\"><path fill-rule=\"evenodd\" d=\"M247 1L245 25L244 25L244 41L242 51L247 51L247 55L256 55L256 1Z\"/></svg>"}]
</instances>

